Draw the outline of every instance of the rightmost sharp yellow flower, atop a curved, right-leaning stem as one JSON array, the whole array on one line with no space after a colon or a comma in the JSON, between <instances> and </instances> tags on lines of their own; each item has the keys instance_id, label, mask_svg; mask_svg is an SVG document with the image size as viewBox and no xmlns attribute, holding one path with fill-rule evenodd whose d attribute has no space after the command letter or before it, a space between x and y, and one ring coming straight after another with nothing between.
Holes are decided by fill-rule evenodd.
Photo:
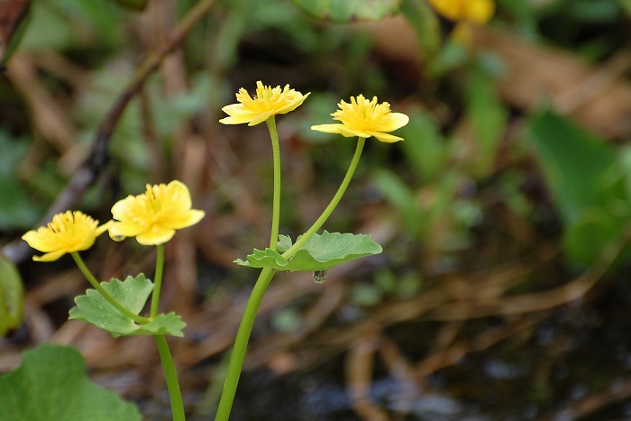
<instances>
[{"instance_id":1,"label":"rightmost sharp yellow flower, atop a curved, right-leaning stem","mask_svg":"<svg viewBox=\"0 0 631 421\"><path fill-rule=\"evenodd\" d=\"M362 95L351 96L351 104L340 101L339 110L333 114L334 120L342 124L312 125L311 129L325 133L340 133L345 137L359 136L369 138L376 137L381 142L397 142L403 138L388 134L409 122L409 117L402 113L391 113L388 103L377 104L377 96L372 100Z\"/></svg>"}]
</instances>

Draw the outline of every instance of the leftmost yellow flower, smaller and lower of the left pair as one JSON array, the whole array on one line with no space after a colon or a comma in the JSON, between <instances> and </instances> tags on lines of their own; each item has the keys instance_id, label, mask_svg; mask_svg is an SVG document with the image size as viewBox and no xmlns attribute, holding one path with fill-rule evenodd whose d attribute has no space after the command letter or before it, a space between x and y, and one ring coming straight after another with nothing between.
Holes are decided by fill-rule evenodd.
<instances>
[{"instance_id":1,"label":"leftmost yellow flower, smaller and lower of the left pair","mask_svg":"<svg viewBox=\"0 0 631 421\"><path fill-rule=\"evenodd\" d=\"M25 233L22 239L33 249L46 253L34 256L33 261L56 261L66 253L92 247L96 237L104 233L108 225L98 226L98 221L88 215L79 211L66 211L54 215L47 226Z\"/></svg>"}]
</instances>

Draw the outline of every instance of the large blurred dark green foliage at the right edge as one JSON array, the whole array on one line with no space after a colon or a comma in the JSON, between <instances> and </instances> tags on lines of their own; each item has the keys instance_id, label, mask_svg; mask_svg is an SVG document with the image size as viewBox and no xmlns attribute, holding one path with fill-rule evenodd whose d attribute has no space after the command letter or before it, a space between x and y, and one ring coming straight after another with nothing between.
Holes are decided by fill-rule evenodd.
<instances>
[{"instance_id":1,"label":"large blurred dark green foliage at the right edge","mask_svg":"<svg viewBox=\"0 0 631 421\"><path fill-rule=\"evenodd\" d=\"M564 251L571 261L593 263L631 217L628 171L613 146L560 115L535 115L530 133L565 225Z\"/></svg>"}]
</instances>

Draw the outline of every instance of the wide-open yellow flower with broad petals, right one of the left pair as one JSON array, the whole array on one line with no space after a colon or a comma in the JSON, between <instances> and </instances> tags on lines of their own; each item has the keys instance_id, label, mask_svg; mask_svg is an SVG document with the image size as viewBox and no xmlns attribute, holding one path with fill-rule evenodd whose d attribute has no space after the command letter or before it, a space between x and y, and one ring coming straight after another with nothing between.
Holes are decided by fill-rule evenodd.
<instances>
[{"instance_id":1,"label":"wide-open yellow flower with broad petals, right one of the left pair","mask_svg":"<svg viewBox=\"0 0 631 421\"><path fill-rule=\"evenodd\" d=\"M175 230L197 224L204 211L191 209L188 188L180 181L168 185L147 185L142 195L128 196L112 206L114 222L110 236L116 240L136 237L145 245L168 242Z\"/></svg>"}]
</instances>

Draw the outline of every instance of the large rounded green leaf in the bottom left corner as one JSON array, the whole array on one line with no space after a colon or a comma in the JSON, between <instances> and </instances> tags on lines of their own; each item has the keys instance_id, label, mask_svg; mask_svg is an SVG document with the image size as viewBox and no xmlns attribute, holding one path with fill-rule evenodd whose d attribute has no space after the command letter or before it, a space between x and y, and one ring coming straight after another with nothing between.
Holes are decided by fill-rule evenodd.
<instances>
[{"instance_id":1,"label":"large rounded green leaf in the bottom left corner","mask_svg":"<svg viewBox=\"0 0 631 421\"><path fill-rule=\"evenodd\" d=\"M22 365L0 377L4 421L136 421L138 408L96 387L74 348L41 345L23 353Z\"/></svg>"}]
</instances>

